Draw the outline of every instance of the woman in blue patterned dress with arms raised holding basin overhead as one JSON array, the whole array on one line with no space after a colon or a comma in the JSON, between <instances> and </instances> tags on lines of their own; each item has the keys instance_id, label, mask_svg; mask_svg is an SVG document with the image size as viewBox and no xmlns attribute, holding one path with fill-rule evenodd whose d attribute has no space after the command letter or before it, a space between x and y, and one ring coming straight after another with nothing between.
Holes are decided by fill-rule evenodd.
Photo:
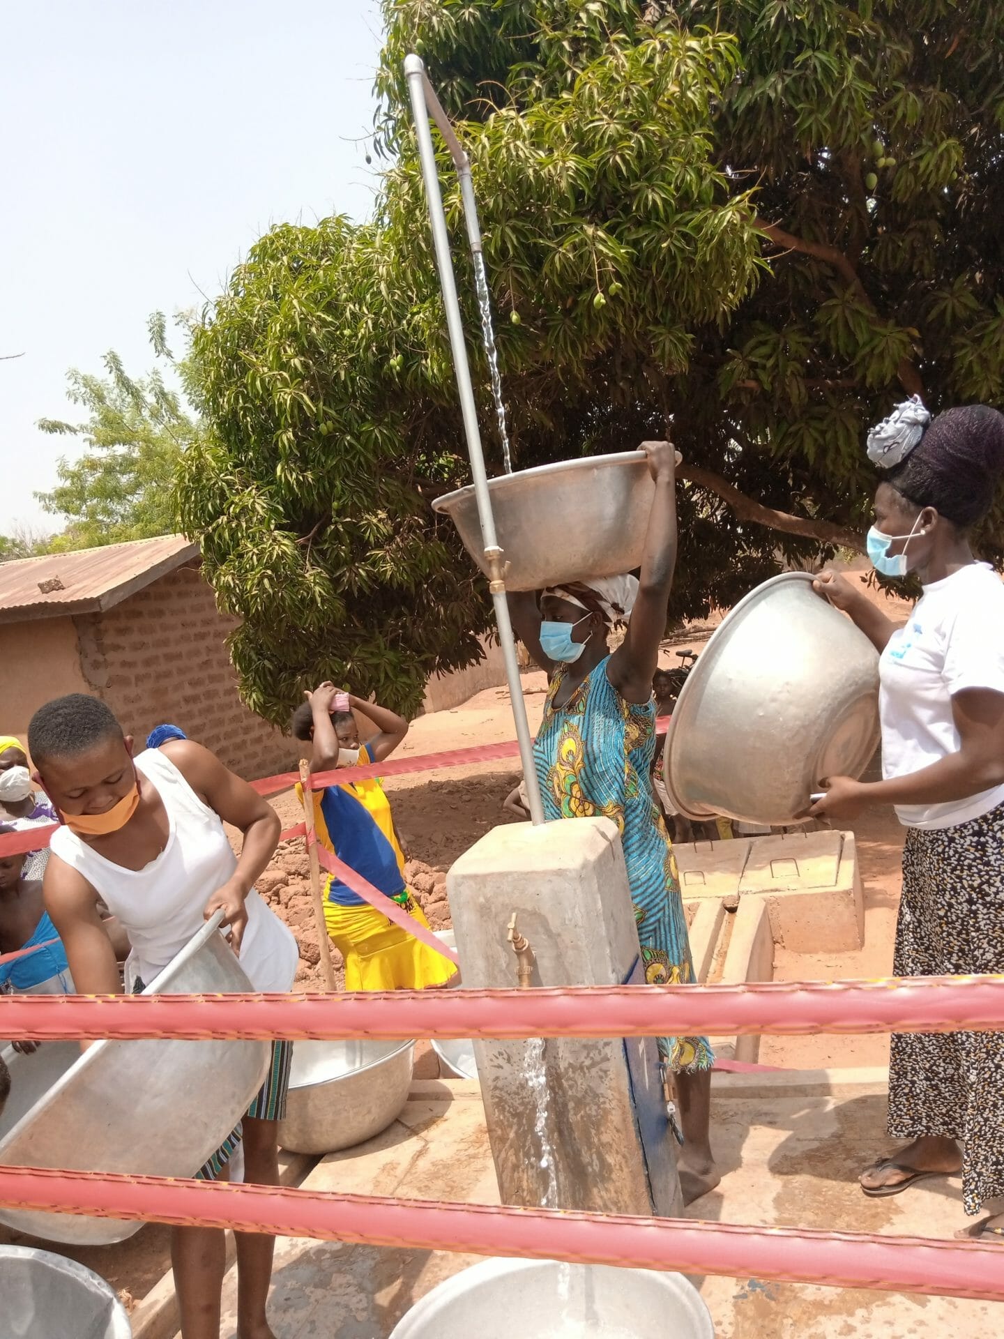
<instances>
[{"instance_id":1,"label":"woman in blue patterned dress with arms raised holding basin overhead","mask_svg":"<svg viewBox=\"0 0 1004 1339\"><path fill-rule=\"evenodd\" d=\"M624 845L641 959L649 984L693 980L669 836L652 789L656 710L652 675L665 635L676 564L676 461L668 442L643 442L656 482L640 580L616 577L510 593L513 625L550 675L534 749L545 817L612 818ZM576 525L574 516L565 524ZM610 653L608 637L626 624ZM688 1202L719 1181L708 1139L711 1066L703 1036L664 1036L683 1125L680 1186Z\"/></svg>"}]
</instances>

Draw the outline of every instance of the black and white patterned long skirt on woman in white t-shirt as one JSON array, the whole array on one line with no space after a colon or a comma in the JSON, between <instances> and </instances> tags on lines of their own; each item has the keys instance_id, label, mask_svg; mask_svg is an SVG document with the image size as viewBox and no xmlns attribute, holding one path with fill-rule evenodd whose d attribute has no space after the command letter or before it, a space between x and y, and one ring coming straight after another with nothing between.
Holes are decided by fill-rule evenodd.
<instances>
[{"instance_id":1,"label":"black and white patterned long skirt on woman in white t-shirt","mask_svg":"<svg viewBox=\"0 0 1004 1339\"><path fill-rule=\"evenodd\" d=\"M897 976L1004 972L1004 805L956 828L906 834ZM963 1201L1004 1196L1004 1032L896 1034L889 1133L963 1148Z\"/></svg>"}]
</instances>

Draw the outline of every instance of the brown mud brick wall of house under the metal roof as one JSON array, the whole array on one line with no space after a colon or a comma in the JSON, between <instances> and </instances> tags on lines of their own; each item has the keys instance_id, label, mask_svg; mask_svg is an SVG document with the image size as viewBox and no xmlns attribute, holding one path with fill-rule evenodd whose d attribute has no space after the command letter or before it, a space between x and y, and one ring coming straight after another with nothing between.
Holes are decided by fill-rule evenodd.
<instances>
[{"instance_id":1,"label":"brown mud brick wall of house under the metal roof","mask_svg":"<svg viewBox=\"0 0 1004 1339\"><path fill-rule=\"evenodd\" d=\"M76 617L80 668L141 749L154 726L181 726L240 777L295 766L297 747L237 695L220 613L195 565L178 568L104 613Z\"/></svg>"}]
</instances>

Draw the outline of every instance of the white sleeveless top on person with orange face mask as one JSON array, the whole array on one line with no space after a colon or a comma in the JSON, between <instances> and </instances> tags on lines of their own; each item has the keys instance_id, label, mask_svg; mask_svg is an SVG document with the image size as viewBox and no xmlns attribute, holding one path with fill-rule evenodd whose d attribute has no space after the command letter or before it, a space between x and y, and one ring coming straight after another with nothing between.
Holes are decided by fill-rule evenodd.
<instances>
[{"instance_id":1,"label":"white sleeveless top on person with orange face mask","mask_svg":"<svg viewBox=\"0 0 1004 1339\"><path fill-rule=\"evenodd\" d=\"M126 981L139 976L149 986L202 928L205 905L233 876L237 857L220 815L202 803L170 758L159 749L147 749L135 765L167 811L167 845L161 854L143 869L124 869L66 826L52 834L51 849L83 874L122 921L133 945ZM245 905L241 967L256 991L288 991L300 959L296 940L254 889Z\"/></svg>"}]
</instances>

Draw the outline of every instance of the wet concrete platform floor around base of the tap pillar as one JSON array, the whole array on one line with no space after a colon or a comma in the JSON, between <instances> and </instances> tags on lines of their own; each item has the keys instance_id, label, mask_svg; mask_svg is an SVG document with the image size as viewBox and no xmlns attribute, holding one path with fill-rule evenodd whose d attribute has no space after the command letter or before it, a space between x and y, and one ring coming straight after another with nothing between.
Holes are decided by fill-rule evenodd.
<instances>
[{"instance_id":1,"label":"wet concrete platform floor around base of the tap pillar","mask_svg":"<svg viewBox=\"0 0 1004 1339\"><path fill-rule=\"evenodd\" d=\"M857 1189L862 1164L886 1146L884 1117L882 1071L716 1075L714 1144L726 1176L688 1216L949 1237L965 1223L957 1182L924 1182L889 1200L867 1200ZM477 1085L416 1083L390 1130L325 1158L304 1185L497 1204ZM280 1237L272 1326L278 1339L387 1339L418 1297L473 1263L473 1256ZM984 1339L1004 1322L1004 1307L992 1303L762 1279L695 1281L711 1308L718 1339L941 1339L949 1334ZM224 1304L222 1339L236 1339L233 1271ZM546 1339L526 1316L514 1319L513 1332Z\"/></svg>"}]
</instances>

